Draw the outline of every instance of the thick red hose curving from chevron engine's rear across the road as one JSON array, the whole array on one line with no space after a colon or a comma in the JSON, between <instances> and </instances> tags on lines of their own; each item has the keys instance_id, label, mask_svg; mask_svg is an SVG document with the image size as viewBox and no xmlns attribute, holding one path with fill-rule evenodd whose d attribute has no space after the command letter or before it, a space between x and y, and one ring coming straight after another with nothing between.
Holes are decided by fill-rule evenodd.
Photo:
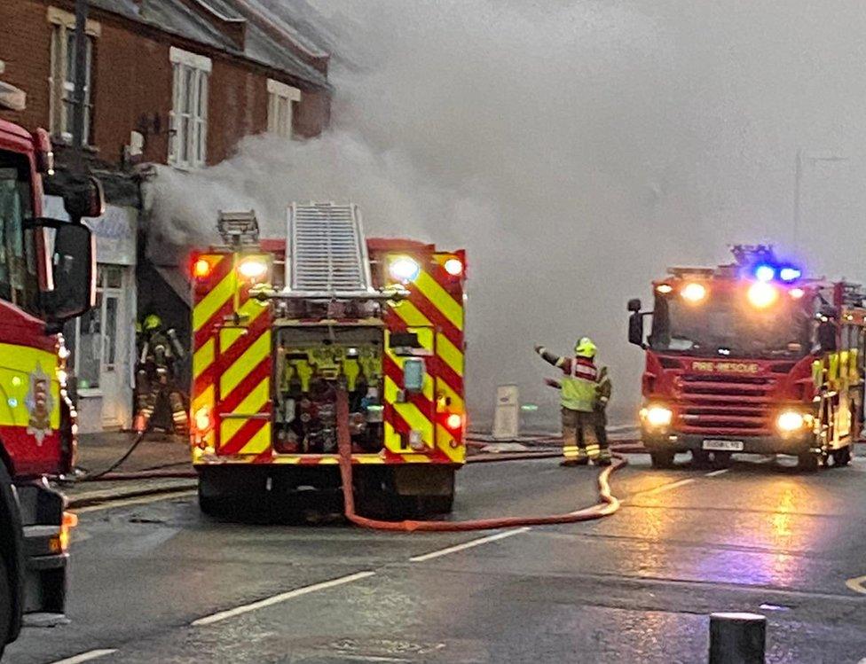
<instances>
[{"instance_id":1,"label":"thick red hose curving from chevron engine's rear across the road","mask_svg":"<svg viewBox=\"0 0 866 664\"><path fill-rule=\"evenodd\" d=\"M521 526L546 526L557 523L577 523L610 516L619 509L619 501L610 493L610 474L626 465L625 457L614 455L613 464L598 475L598 493L601 502L577 512L551 514L540 517L500 517L497 519L472 519L468 521L382 521L368 519L355 513L355 496L352 492L351 436L349 433L349 399L345 391L337 390L336 418L337 447L340 452L340 475L342 496L345 502L345 515L356 526L375 530L390 530L405 533L461 532L467 530L489 530Z\"/></svg>"}]
</instances>

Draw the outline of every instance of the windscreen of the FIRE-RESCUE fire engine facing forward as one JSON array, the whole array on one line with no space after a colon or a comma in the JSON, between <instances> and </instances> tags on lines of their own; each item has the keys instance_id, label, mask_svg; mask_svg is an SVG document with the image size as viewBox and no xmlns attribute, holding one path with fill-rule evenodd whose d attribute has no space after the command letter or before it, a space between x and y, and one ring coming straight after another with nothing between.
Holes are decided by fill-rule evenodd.
<instances>
[{"instance_id":1,"label":"windscreen of the FIRE-RESCUE fire engine facing forward","mask_svg":"<svg viewBox=\"0 0 866 664\"><path fill-rule=\"evenodd\" d=\"M698 304L657 297L650 348L683 355L800 357L811 348L812 316L804 301L780 298L755 309L747 287L708 294Z\"/></svg>"}]
</instances>

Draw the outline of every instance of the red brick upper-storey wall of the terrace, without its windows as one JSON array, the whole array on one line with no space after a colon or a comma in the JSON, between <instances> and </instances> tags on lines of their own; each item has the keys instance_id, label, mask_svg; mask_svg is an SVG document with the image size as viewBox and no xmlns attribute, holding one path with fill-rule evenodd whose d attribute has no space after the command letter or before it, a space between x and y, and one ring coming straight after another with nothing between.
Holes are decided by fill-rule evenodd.
<instances>
[{"instance_id":1,"label":"red brick upper-storey wall of the terrace, without its windows","mask_svg":"<svg viewBox=\"0 0 866 664\"><path fill-rule=\"evenodd\" d=\"M0 117L28 129L48 127L51 67L51 25L45 0L0 0L0 59L2 74L28 94L24 112L0 112ZM70 11L67 0L51 4ZM240 139L267 129L266 70L232 61L205 46L181 43L171 35L150 33L122 18L91 9L91 20L102 27L94 51L94 105L91 145L98 158L119 163L130 132L145 135L146 161L168 158L172 72L169 47L209 56L208 163L232 154ZM143 34L144 33L144 34ZM317 136L327 127L330 100L326 93L302 91L295 105L295 134Z\"/></svg>"}]
</instances>

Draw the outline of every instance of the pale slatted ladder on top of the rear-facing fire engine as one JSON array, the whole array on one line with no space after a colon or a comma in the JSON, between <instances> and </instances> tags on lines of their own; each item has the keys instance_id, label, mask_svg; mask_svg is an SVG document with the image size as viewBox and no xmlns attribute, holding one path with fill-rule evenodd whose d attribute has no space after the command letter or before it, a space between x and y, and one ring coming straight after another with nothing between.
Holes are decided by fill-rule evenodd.
<instances>
[{"instance_id":1,"label":"pale slatted ladder on top of the rear-facing fire engine","mask_svg":"<svg viewBox=\"0 0 866 664\"><path fill-rule=\"evenodd\" d=\"M287 239L289 293L329 297L373 292L358 206L292 203Z\"/></svg>"}]
</instances>

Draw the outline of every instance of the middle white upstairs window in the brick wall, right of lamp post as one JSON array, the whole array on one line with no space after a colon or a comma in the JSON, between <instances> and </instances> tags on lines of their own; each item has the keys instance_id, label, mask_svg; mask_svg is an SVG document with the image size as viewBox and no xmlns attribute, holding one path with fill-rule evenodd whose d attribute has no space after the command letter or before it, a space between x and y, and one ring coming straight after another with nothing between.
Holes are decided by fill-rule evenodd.
<instances>
[{"instance_id":1,"label":"middle white upstairs window in the brick wall, right of lamp post","mask_svg":"<svg viewBox=\"0 0 866 664\"><path fill-rule=\"evenodd\" d=\"M172 46L169 164L200 168L208 160L209 58Z\"/></svg>"}]
</instances>

